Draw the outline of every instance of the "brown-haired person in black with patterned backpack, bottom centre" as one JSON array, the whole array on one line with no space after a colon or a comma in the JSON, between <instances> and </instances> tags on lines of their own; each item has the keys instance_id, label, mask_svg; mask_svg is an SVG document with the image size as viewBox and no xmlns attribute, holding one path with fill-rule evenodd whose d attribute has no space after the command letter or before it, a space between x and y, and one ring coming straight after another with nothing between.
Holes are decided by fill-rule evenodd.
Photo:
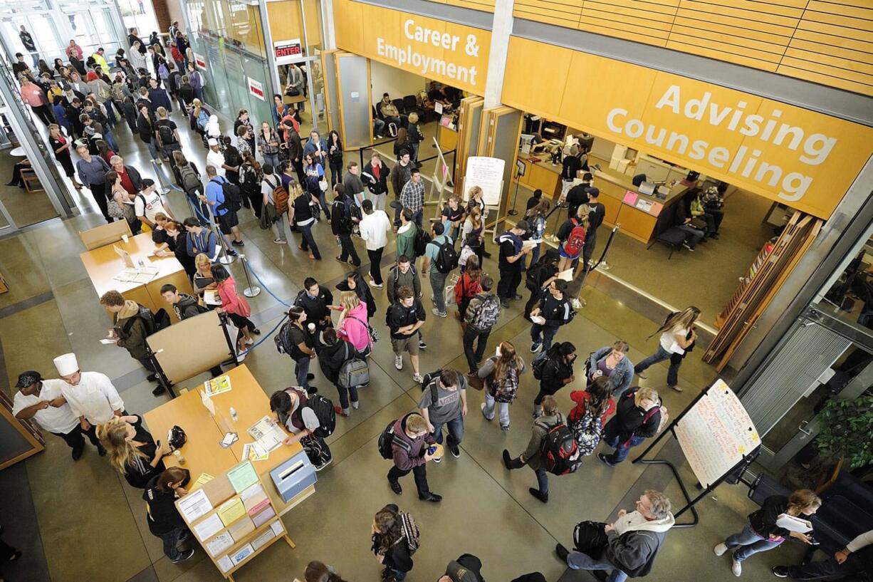
<instances>
[{"instance_id":1,"label":"brown-haired person in black with patterned backpack, bottom centre","mask_svg":"<svg viewBox=\"0 0 873 582\"><path fill-rule=\"evenodd\" d=\"M376 561L385 566L382 570L383 582L402 582L412 570L412 552L417 546L413 546L409 539L412 537L409 525L415 527L415 522L401 513L394 503L388 503L373 518L370 527L372 550ZM416 529L416 536L417 533Z\"/></svg>"}]
</instances>

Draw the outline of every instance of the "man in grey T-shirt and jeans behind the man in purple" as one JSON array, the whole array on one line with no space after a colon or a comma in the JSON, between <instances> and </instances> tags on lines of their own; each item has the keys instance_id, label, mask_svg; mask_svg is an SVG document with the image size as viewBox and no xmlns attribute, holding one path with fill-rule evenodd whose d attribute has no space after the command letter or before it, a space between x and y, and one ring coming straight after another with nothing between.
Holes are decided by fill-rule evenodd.
<instances>
[{"instance_id":1,"label":"man in grey T-shirt and jeans behind the man in purple","mask_svg":"<svg viewBox=\"0 0 873 582\"><path fill-rule=\"evenodd\" d=\"M446 444L451 456L461 456L459 445L464 440L464 417L467 415L467 378L450 368L443 368L423 386L418 409L428 423L436 443L443 444L443 425L449 428ZM440 462L442 459L434 459Z\"/></svg>"}]
</instances>

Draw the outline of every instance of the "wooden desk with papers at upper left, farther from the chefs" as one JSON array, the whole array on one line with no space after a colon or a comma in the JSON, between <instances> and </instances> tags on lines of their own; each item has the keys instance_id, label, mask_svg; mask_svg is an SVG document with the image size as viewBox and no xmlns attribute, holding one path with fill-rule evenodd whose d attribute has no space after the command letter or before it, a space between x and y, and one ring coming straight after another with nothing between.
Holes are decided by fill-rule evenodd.
<instances>
[{"instance_id":1,"label":"wooden desk with papers at upper left, farther from the chefs","mask_svg":"<svg viewBox=\"0 0 873 582\"><path fill-rule=\"evenodd\" d=\"M115 246L130 253L134 264L139 265L140 260L142 260L146 267L157 267L158 273L148 283L116 281L113 277L126 267L124 260L118 253L115 253ZM85 265L85 270L98 296L114 289L125 299L136 301L152 311L167 308L170 318L176 322L178 319L175 316L175 311L168 308L167 302L161 296L162 286L172 283L179 289L180 293L194 294L194 291L191 289L191 281L188 274L185 273L185 269L182 268L182 263L175 257L152 256L155 253L155 247L151 232L143 232L127 239L127 243L119 240L111 245L100 246L100 248L81 253L79 257L82 264Z\"/></svg>"}]
</instances>

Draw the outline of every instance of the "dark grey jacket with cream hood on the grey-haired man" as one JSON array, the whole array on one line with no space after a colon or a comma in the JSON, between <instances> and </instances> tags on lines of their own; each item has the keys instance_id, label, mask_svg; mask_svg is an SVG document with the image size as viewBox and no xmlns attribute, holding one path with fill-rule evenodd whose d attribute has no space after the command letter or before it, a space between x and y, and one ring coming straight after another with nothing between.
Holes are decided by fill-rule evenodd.
<instances>
[{"instance_id":1,"label":"dark grey jacket with cream hood on the grey-haired man","mask_svg":"<svg viewBox=\"0 0 873 582\"><path fill-rule=\"evenodd\" d=\"M649 521L639 511L631 511L615 520L615 530L607 534L605 558L631 578L646 576L675 523L671 513Z\"/></svg>"}]
</instances>

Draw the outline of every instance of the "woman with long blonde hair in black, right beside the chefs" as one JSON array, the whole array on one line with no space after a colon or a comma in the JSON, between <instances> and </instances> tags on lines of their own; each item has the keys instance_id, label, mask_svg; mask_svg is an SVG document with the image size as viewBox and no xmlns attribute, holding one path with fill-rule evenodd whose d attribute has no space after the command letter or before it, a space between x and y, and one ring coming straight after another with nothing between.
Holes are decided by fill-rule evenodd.
<instances>
[{"instance_id":1,"label":"woman with long blonde hair in black, right beside the chefs","mask_svg":"<svg viewBox=\"0 0 873 582\"><path fill-rule=\"evenodd\" d=\"M163 457L169 448L161 441L155 443L142 427L142 419L134 414L116 416L97 426L97 438L107 449L109 464L135 488L146 488L166 469Z\"/></svg>"}]
</instances>

